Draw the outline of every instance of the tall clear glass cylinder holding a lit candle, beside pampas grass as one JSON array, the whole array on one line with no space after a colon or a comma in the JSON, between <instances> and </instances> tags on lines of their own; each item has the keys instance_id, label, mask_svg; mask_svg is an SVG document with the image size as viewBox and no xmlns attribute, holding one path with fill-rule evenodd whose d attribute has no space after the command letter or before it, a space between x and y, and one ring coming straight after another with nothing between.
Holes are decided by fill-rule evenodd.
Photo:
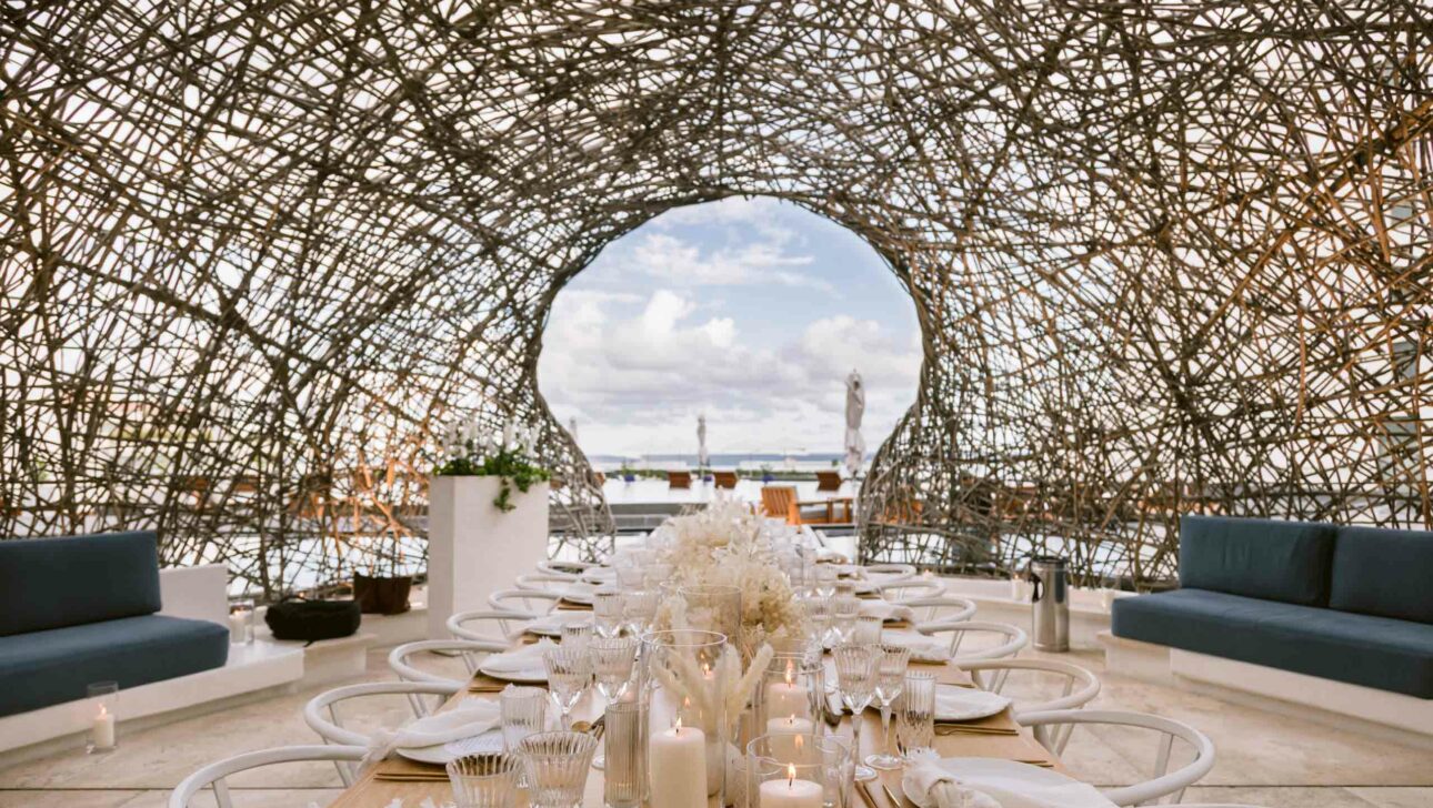
<instances>
[{"instance_id":1,"label":"tall clear glass cylinder holding a lit candle, beside pampas grass","mask_svg":"<svg viewBox=\"0 0 1433 808\"><path fill-rule=\"evenodd\" d=\"M727 636L695 629L648 632L638 660L638 701L648 708L652 805L725 804Z\"/></svg>"}]
</instances>

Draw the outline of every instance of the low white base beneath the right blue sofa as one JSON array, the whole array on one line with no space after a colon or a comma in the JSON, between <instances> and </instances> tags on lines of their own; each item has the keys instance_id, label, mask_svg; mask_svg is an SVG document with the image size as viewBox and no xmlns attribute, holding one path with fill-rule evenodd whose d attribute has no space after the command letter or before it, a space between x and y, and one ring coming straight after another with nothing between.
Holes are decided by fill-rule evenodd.
<instances>
[{"instance_id":1,"label":"low white base beneath the right blue sofa","mask_svg":"<svg viewBox=\"0 0 1433 808\"><path fill-rule=\"evenodd\" d=\"M1099 635L1105 669L1201 695L1433 749L1433 699Z\"/></svg>"}]
</instances>

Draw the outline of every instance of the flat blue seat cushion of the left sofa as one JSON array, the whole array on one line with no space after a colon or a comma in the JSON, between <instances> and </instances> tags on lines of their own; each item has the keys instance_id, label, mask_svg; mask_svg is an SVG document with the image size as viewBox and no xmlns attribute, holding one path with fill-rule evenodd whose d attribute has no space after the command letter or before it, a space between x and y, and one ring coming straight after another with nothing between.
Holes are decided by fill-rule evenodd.
<instances>
[{"instance_id":1,"label":"flat blue seat cushion of the left sofa","mask_svg":"<svg viewBox=\"0 0 1433 808\"><path fill-rule=\"evenodd\" d=\"M0 715L83 699L92 682L123 691L222 668L228 656L226 627L162 615L0 638Z\"/></svg>"}]
</instances>

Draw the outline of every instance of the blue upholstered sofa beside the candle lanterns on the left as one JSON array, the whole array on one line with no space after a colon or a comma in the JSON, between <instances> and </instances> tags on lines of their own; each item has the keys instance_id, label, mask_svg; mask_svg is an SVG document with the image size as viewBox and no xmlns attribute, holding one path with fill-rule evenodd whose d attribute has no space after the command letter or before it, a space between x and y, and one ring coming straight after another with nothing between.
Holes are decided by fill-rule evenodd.
<instances>
[{"instance_id":1,"label":"blue upholstered sofa beside the candle lanterns on the left","mask_svg":"<svg viewBox=\"0 0 1433 808\"><path fill-rule=\"evenodd\" d=\"M228 627L159 609L150 532L0 542L0 716L224 666Z\"/></svg>"}]
</instances>

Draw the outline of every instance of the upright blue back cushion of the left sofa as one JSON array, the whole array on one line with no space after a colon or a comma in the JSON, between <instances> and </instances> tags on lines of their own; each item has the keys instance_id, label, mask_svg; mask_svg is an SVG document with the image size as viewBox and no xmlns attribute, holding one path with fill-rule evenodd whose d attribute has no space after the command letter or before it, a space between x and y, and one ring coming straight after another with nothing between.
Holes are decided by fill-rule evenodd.
<instances>
[{"instance_id":1,"label":"upright blue back cushion of the left sofa","mask_svg":"<svg viewBox=\"0 0 1433 808\"><path fill-rule=\"evenodd\" d=\"M0 636L159 607L153 532L0 542Z\"/></svg>"}]
</instances>

